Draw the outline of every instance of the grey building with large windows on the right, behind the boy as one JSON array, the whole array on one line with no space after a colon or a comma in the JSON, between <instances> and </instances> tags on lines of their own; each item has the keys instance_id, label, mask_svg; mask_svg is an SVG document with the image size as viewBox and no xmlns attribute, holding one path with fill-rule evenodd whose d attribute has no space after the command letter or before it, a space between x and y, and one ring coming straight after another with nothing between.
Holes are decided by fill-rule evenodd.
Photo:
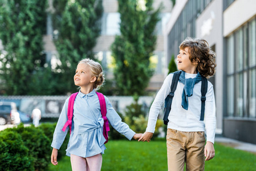
<instances>
[{"instance_id":1,"label":"grey building with large windows on the right, behind the boy","mask_svg":"<svg viewBox=\"0 0 256 171\"><path fill-rule=\"evenodd\" d=\"M239 13L238 13L239 11ZM166 63L186 36L216 52L209 79L216 96L216 133L256 144L256 4L253 0L176 1L165 30Z\"/></svg>"}]
</instances>

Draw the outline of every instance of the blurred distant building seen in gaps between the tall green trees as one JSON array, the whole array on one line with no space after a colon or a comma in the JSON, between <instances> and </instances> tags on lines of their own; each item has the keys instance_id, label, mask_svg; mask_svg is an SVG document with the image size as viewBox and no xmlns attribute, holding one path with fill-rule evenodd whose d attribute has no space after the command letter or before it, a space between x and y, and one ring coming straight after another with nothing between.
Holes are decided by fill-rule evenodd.
<instances>
[{"instance_id":1,"label":"blurred distant building seen in gaps between the tall green trees","mask_svg":"<svg viewBox=\"0 0 256 171\"><path fill-rule=\"evenodd\" d=\"M138 0L139 1L139 0ZM172 1L170 0L155 0L153 1L153 7L157 9L160 4L164 7L160 13L160 21L156 26L157 43L154 51L154 55L151 56L152 66L155 66L155 74L152 76L147 91L156 92L161 88L162 82L164 82L167 65L166 55L164 52L164 29L166 22L168 22L171 11ZM46 53L46 60L51 63L52 68L59 63L58 51L52 42L54 39L55 31L52 29L51 13L54 13L54 7L52 0L48 0L49 7L47 17L47 34L43 36L44 40L44 52ZM97 44L93 51L95 57L101 62L104 68L107 79L113 79L113 57L111 55L111 44L115 41L115 36L120 35L119 23L120 14L118 13L118 1L117 0L103 0L103 17L101 19L101 35L97 38ZM0 42L1 47L1 42Z\"/></svg>"}]
</instances>

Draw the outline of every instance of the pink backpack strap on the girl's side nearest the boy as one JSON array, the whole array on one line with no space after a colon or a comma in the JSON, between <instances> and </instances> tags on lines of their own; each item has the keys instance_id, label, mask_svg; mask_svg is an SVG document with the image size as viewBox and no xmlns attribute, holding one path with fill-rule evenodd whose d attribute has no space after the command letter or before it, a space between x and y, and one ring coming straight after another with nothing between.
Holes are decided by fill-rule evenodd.
<instances>
[{"instance_id":1,"label":"pink backpack strap on the girl's side nearest the boy","mask_svg":"<svg viewBox=\"0 0 256 171\"><path fill-rule=\"evenodd\" d=\"M99 97L99 101L100 101L100 112L102 115L102 118L104 119L104 125L103 125L103 136L106 139L105 143L108 143L108 131L110 131L109 129L109 124L108 124L108 119L107 119L107 107L106 107L106 102L105 102L105 98L104 95L102 93L96 92L97 96Z\"/></svg>"}]
</instances>

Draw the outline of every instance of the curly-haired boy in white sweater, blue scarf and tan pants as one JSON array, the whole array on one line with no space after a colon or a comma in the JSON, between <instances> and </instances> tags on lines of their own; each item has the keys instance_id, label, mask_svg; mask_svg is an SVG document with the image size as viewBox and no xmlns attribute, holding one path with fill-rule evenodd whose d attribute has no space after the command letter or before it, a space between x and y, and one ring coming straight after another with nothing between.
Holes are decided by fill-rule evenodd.
<instances>
[{"instance_id":1,"label":"curly-haired boy in white sweater, blue scarf and tan pants","mask_svg":"<svg viewBox=\"0 0 256 171\"><path fill-rule=\"evenodd\" d=\"M201 80L201 75L205 77L214 75L216 67L214 53L206 40L186 38L180 44L177 61L178 70L182 72L168 116L166 135L168 170L183 170L185 162L186 170L204 170L205 160L212 159L215 153L213 146L216 127L215 99L213 85L208 82L205 121L201 121L201 81L196 82L196 80ZM172 78L173 74L169 74L157 93L149 112L148 127L139 141L151 140L161 105L170 92ZM185 80L185 83L181 83L181 79ZM186 92L191 93L186 95Z\"/></svg>"}]
</instances>

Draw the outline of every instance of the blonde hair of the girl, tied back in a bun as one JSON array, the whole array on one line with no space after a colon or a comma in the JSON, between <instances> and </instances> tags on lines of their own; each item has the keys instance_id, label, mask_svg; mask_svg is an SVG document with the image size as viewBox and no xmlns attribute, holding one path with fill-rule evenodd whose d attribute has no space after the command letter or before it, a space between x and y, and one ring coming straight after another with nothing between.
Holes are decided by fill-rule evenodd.
<instances>
[{"instance_id":1,"label":"blonde hair of the girl, tied back in a bun","mask_svg":"<svg viewBox=\"0 0 256 171\"><path fill-rule=\"evenodd\" d=\"M88 58L80 60L79 63L87 64L91 70L92 76L96 77L96 81L94 82L94 89L100 89L104 82L104 73L100 63Z\"/></svg>"}]
</instances>

